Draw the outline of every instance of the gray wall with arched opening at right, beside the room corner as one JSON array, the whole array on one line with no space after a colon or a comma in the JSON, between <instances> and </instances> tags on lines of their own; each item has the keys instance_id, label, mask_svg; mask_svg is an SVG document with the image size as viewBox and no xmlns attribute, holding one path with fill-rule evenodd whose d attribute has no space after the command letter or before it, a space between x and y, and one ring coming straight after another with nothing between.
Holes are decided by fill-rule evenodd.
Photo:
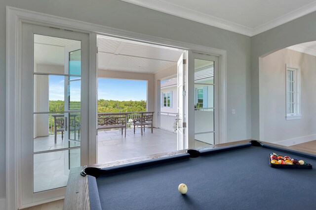
<instances>
[{"instance_id":1,"label":"gray wall with arched opening at right, beside the room corner","mask_svg":"<svg viewBox=\"0 0 316 210\"><path fill-rule=\"evenodd\" d=\"M316 12L305 15L301 18L285 23L251 37L251 136L259 139L263 127L260 127L260 116L264 113L259 100L259 57L264 57L285 47L316 41ZM264 139L261 139L264 140Z\"/></svg>"}]
</instances>

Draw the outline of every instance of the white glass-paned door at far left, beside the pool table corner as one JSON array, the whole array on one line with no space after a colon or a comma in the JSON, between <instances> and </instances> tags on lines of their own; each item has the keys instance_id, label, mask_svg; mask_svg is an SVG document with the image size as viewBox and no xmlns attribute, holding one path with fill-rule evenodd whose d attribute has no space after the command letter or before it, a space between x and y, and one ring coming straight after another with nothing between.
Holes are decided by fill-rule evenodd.
<instances>
[{"instance_id":1,"label":"white glass-paned door at far left, beside the pool table corner","mask_svg":"<svg viewBox=\"0 0 316 210\"><path fill-rule=\"evenodd\" d=\"M23 24L22 206L63 196L88 164L89 36Z\"/></svg>"}]
</instances>

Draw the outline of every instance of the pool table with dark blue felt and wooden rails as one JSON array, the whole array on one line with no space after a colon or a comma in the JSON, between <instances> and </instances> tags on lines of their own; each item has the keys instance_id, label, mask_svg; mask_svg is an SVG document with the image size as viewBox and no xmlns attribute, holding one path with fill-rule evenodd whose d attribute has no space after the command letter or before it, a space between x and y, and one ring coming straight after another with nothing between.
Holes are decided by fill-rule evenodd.
<instances>
[{"instance_id":1,"label":"pool table with dark blue felt and wooden rails","mask_svg":"<svg viewBox=\"0 0 316 210\"><path fill-rule=\"evenodd\" d=\"M78 207L72 207L76 210L315 210L316 169L272 168L269 164L272 152L316 167L315 155L252 140L121 166L85 168L77 175L87 186L77 190L85 189L86 200L74 202ZM180 183L188 186L185 195L178 191ZM67 191L70 194L69 186ZM69 206L66 192L67 202Z\"/></svg>"}]
</instances>

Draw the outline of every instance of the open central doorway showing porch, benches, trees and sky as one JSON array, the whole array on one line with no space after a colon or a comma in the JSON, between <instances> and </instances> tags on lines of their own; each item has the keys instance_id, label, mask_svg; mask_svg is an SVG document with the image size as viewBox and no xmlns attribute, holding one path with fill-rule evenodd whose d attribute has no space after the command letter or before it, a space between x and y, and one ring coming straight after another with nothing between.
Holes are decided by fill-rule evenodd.
<instances>
[{"instance_id":1,"label":"open central doorway showing porch, benches, trees and sky","mask_svg":"<svg viewBox=\"0 0 316 210\"><path fill-rule=\"evenodd\" d=\"M176 112L162 113L160 81L177 74L183 52L98 36L98 163L177 150Z\"/></svg>"}]
</instances>

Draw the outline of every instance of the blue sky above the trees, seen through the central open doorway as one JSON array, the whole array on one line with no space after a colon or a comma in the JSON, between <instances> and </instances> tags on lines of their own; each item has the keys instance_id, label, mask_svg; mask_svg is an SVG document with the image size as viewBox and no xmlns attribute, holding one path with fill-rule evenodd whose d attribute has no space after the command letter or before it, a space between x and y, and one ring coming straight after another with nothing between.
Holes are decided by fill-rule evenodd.
<instances>
[{"instance_id":1,"label":"blue sky above the trees, seen through the central open doorway","mask_svg":"<svg viewBox=\"0 0 316 210\"><path fill-rule=\"evenodd\" d=\"M147 81L98 79L98 99L146 101Z\"/></svg>"}]
</instances>

